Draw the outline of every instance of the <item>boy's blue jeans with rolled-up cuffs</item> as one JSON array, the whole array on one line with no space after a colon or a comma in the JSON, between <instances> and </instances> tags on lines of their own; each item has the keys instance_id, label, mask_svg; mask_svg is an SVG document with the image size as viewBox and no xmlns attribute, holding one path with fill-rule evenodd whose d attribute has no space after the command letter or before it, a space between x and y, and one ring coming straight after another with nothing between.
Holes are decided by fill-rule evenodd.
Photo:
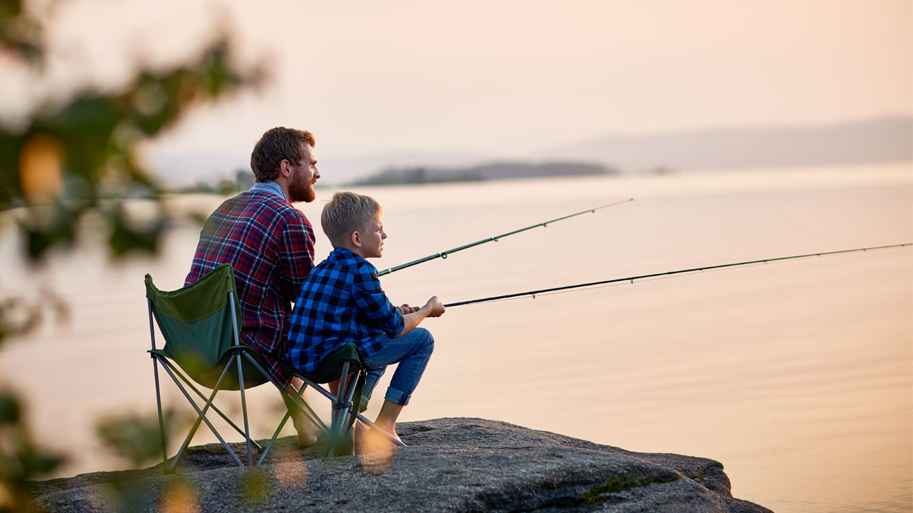
<instances>
[{"instance_id":1,"label":"boy's blue jeans with rolled-up cuffs","mask_svg":"<svg viewBox=\"0 0 913 513\"><path fill-rule=\"evenodd\" d=\"M371 399L371 393L377 380L383 375L387 365L399 363L396 366L394 377L390 381L390 388L383 397L391 403L406 405L415 392L418 381L422 379L422 372L435 350L435 339L424 328L415 328L402 337L392 338L386 334L381 335L383 347L373 355L364 359L368 368L368 378L364 382L364 403Z\"/></svg>"}]
</instances>

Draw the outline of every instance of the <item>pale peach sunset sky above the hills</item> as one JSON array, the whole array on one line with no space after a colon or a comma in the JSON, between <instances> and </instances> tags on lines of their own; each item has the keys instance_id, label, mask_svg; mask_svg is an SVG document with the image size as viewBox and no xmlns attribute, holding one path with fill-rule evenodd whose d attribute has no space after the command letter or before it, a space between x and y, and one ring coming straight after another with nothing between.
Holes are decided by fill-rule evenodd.
<instances>
[{"instance_id":1,"label":"pale peach sunset sky above the hills","mask_svg":"<svg viewBox=\"0 0 913 513\"><path fill-rule=\"evenodd\" d=\"M913 114L910 0L73 0L47 16L49 79L8 73L0 111L116 87L194 55L219 26L268 83L194 110L152 154L247 153L277 125L314 132L333 157L509 156Z\"/></svg>"}]
</instances>

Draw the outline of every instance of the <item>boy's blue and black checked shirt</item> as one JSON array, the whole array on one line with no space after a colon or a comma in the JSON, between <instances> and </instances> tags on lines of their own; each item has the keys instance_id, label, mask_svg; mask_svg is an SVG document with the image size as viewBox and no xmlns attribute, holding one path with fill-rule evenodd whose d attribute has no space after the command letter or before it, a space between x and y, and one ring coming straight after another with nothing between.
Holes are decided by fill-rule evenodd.
<instances>
[{"instance_id":1,"label":"boy's blue and black checked shirt","mask_svg":"<svg viewBox=\"0 0 913 513\"><path fill-rule=\"evenodd\" d=\"M381 349L381 333L395 337L403 328L403 315L383 293L377 268L337 247L301 286L289 326L289 362L300 372L314 372L348 342L368 358Z\"/></svg>"}]
</instances>

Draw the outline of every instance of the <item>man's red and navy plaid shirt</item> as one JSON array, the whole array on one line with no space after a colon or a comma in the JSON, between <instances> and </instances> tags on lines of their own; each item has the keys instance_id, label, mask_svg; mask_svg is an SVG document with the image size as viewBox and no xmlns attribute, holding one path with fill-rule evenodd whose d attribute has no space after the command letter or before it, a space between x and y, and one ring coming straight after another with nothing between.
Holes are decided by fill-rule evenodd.
<instances>
[{"instance_id":1,"label":"man's red and navy plaid shirt","mask_svg":"<svg viewBox=\"0 0 913 513\"><path fill-rule=\"evenodd\" d=\"M184 286L225 263L235 269L244 313L242 342L260 352L267 371L285 385L289 372L278 359L289 351L291 303L314 267L314 231L308 218L256 185L226 200L200 232Z\"/></svg>"}]
</instances>

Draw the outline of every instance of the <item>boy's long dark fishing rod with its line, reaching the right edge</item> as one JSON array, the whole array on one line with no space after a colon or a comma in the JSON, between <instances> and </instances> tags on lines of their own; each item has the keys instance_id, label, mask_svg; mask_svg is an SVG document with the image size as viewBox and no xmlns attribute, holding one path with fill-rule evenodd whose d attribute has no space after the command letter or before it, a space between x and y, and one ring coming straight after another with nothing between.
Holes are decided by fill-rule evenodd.
<instances>
[{"instance_id":1,"label":"boy's long dark fishing rod with its line, reaching the right edge","mask_svg":"<svg viewBox=\"0 0 913 513\"><path fill-rule=\"evenodd\" d=\"M505 301L508 299L522 298L524 296L551 296L554 294L561 294L564 292L574 292L579 289L591 289L591 288L604 288L604 287L614 287L617 285L631 284L633 285L635 281L653 281L654 279L665 279L666 277L674 277L674 275L686 275L686 274L696 274L703 273L711 270L721 270L724 268L731 267L749 267L749 266L758 266L761 264L769 264L771 262L781 262L783 260L794 260L798 258L811 258L811 257L827 257L830 255L841 255L847 253L858 253L860 251L875 251L878 249L891 249L897 247L907 247L913 246L913 243L906 244L895 244L891 246L874 246L874 247L859 247L856 249L842 249L839 251L828 251L824 253L810 253L808 255L796 255L794 257L776 257L776 258L765 258L763 260L750 260L748 262L738 262L735 264L721 264L719 266L708 266L708 267L695 267L691 269L681 269L677 271L668 271L665 273L654 273L648 275L634 276L634 277L619 277L613 279L604 279L601 281L593 281L590 283L581 283L578 285L566 285L564 287L553 287L553 288L542 288L540 290L530 290L529 292L517 292L514 294L504 294L502 296L492 296L490 298L479 298L479 299L470 299L468 301L459 301L456 303L448 303L444 305L445 308L449 307L458 307L462 305L471 305L475 303L487 303L492 301ZM650 279L652 278L652 279ZM602 287L599 287L602 286Z\"/></svg>"}]
</instances>

